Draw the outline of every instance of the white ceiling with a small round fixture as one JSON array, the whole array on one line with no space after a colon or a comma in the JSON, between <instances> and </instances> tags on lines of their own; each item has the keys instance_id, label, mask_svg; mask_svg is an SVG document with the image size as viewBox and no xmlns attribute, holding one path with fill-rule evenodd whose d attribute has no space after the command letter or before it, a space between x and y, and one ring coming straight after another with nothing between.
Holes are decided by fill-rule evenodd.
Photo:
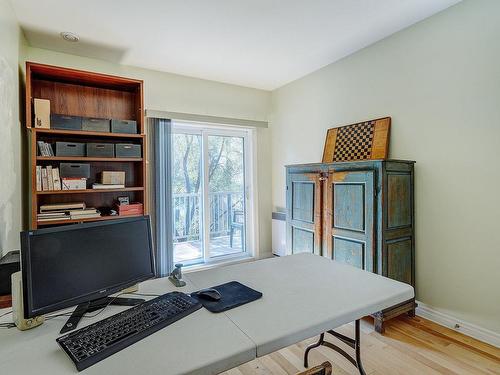
<instances>
[{"instance_id":1,"label":"white ceiling with a small round fixture","mask_svg":"<svg viewBox=\"0 0 500 375\"><path fill-rule=\"evenodd\" d=\"M11 1L34 47L272 90L460 0Z\"/></svg>"}]
</instances>

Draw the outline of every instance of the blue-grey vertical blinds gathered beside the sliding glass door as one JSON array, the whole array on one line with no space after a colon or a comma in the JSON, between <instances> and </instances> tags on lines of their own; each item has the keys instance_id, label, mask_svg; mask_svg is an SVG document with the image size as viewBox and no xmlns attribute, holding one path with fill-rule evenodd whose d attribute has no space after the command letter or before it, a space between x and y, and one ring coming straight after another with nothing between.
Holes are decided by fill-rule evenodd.
<instances>
[{"instance_id":1,"label":"blue-grey vertical blinds gathered beside the sliding glass door","mask_svg":"<svg viewBox=\"0 0 500 375\"><path fill-rule=\"evenodd\" d=\"M173 269L172 243L172 186L171 182L171 121L149 118L150 146L154 155L151 175L154 238L156 247L156 275L163 277Z\"/></svg>"}]
</instances>

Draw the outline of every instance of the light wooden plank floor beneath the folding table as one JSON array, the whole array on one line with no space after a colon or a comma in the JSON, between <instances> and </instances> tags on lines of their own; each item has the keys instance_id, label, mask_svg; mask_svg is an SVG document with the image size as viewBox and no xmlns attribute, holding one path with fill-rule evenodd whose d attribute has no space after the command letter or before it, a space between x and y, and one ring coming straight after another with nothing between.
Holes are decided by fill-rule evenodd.
<instances>
[{"instance_id":1,"label":"light wooden plank floor beneath the folding table","mask_svg":"<svg viewBox=\"0 0 500 375\"><path fill-rule=\"evenodd\" d=\"M393 319L384 335L373 331L370 320L362 322L361 330L361 355L367 374L500 374L500 349L419 317ZM352 336L353 325L338 331ZM302 341L223 374L296 374L305 370L304 348L316 340ZM313 349L309 361L310 365L330 361L334 375L359 374L347 360L326 347Z\"/></svg>"}]
</instances>

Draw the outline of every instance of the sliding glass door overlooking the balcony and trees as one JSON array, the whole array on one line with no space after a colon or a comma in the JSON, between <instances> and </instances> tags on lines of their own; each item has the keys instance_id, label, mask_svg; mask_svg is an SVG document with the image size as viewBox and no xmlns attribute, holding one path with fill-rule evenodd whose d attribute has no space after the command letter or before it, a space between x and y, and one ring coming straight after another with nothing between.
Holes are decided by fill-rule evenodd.
<instances>
[{"instance_id":1,"label":"sliding glass door overlooking the balcony and trees","mask_svg":"<svg viewBox=\"0 0 500 375\"><path fill-rule=\"evenodd\" d=\"M251 256L251 130L174 122L174 263Z\"/></svg>"}]
</instances>

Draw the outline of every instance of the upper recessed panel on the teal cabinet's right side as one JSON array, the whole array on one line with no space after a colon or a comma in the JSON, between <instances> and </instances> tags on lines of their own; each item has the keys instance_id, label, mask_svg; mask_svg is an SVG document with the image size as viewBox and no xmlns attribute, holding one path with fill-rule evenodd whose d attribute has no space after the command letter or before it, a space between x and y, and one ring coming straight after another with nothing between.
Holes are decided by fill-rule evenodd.
<instances>
[{"instance_id":1,"label":"upper recessed panel on the teal cabinet's right side","mask_svg":"<svg viewBox=\"0 0 500 375\"><path fill-rule=\"evenodd\" d=\"M412 224L411 175L387 173L387 226L389 229Z\"/></svg>"}]
</instances>

